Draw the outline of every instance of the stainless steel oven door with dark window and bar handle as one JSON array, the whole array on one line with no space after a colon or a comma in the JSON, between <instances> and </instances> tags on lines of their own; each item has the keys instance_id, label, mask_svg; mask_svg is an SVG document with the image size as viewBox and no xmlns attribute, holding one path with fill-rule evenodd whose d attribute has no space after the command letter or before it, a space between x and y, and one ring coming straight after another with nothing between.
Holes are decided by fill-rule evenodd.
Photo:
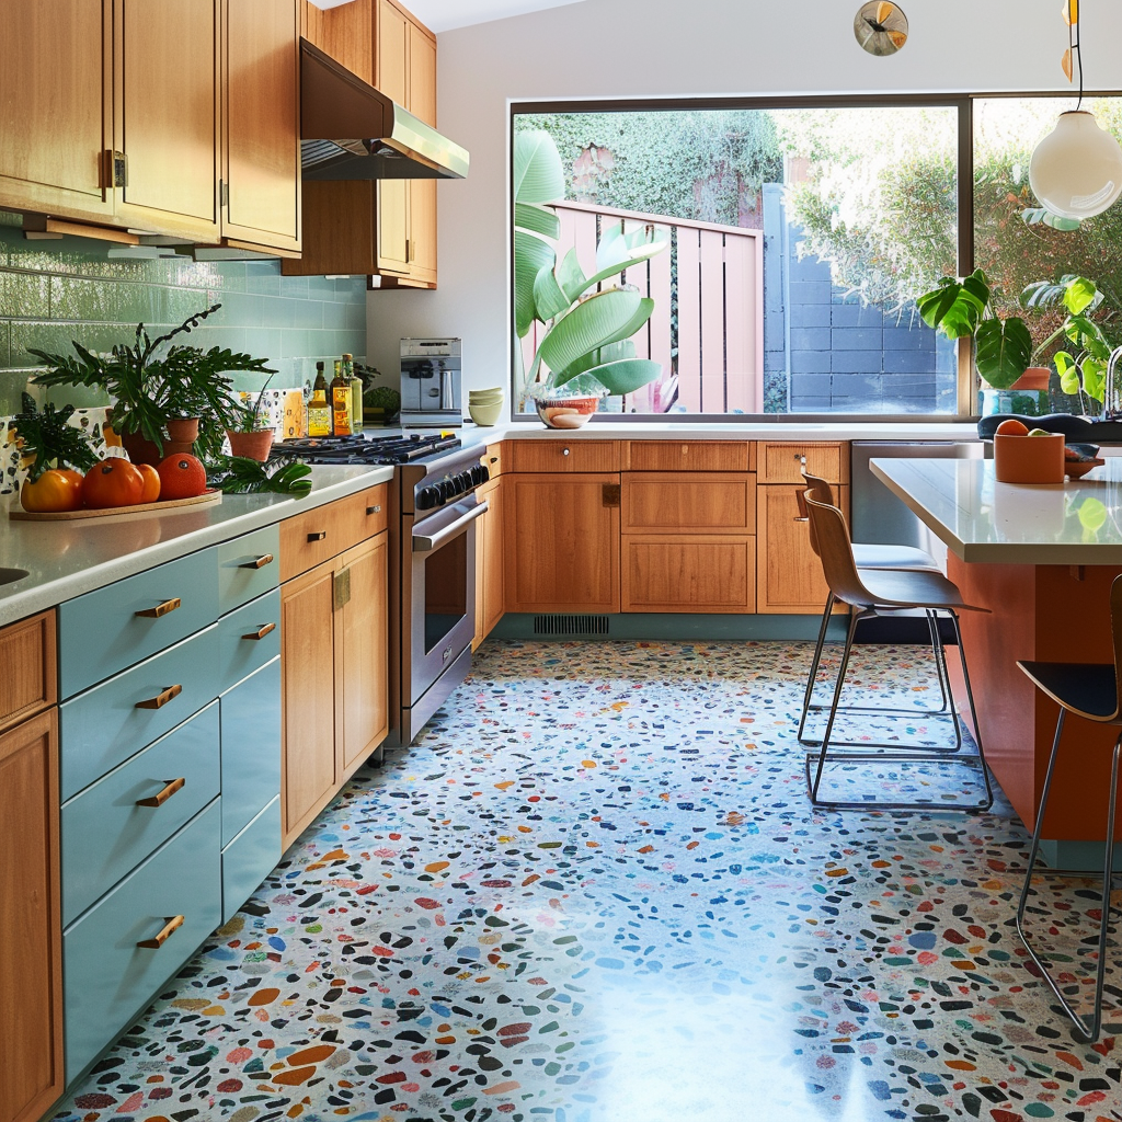
<instances>
[{"instance_id":1,"label":"stainless steel oven door with dark window and bar handle","mask_svg":"<svg viewBox=\"0 0 1122 1122\"><path fill-rule=\"evenodd\" d=\"M440 680L471 647L476 632L475 523L486 511L486 500L468 495L420 522L413 521L408 534L403 535L410 553L411 587L408 616L402 620L403 637L408 628L402 703L413 710L410 725L414 735L459 684Z\"/></svg>"}]
</instances>

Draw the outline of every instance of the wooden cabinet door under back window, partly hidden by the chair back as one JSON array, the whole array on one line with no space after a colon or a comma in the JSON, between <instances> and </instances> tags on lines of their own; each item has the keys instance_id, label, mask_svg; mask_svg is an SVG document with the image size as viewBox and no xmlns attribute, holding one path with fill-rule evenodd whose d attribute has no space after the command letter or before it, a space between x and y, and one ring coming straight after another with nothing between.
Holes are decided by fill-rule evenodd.
<instances>
[{"instance_id":1,"label":"wooden cabinet door under back window, partly hidden by the chair back","mask_svg":"<svg viewBox=\"0 0 1122 1122\"><path fill-rule=\"evenodd\" d=\"M822 610L828 589L822 564L810 548L807 524L795 499L801 486L761 487L756 532L757 607L761 613ZM835 502L846 509L848 487L835 487Z\"/></svg>"}]
</instances>

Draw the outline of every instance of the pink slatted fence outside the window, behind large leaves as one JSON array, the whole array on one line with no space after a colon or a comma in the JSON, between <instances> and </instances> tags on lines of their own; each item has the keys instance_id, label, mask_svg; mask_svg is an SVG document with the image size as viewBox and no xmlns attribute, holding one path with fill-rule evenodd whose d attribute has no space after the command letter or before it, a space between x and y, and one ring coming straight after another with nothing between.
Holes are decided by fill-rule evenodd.
<instances>
[{"instance_id":1,"label":"pink slatted fence outside the window, behind large leaves","mask_svg":"<svg viewBox=\"0 0 1122 1122\"><path fill-rule=\"evenodd\" d=\"M657 380L626 396L625 412L763 410L762 230L636 214L588 203L552 206L561 220L558 259L576 248L586 276L596 272L596 243L601 229L615 222L623 220L625 230L653 224L670 234L670 249L624 273L627 284L654 300L654 314L633 337L635 351L640 358L662 365ZM540 331L541 324L535 323L523 340L527 367Z\"/></svg>"}]
</instances>

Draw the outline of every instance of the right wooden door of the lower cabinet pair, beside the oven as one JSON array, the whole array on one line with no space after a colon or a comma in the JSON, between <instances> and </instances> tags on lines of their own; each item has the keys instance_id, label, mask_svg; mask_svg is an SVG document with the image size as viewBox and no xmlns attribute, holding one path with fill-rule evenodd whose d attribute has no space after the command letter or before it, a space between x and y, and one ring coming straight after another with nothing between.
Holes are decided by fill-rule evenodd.
<instances>
[{"instance_id":1,"label":"right wooden door of the lower cabinet pair, beside the oven","mask_svg":"<svg viewBox=\"0 0 1122 1122\"><path fill-rule=\"evenodd\" d=\"M342 727L335 751L339 781L386 738L389 730L387 535L344 553L337 572L346 592L335 617Z\"/></svg>"}]
</instances>

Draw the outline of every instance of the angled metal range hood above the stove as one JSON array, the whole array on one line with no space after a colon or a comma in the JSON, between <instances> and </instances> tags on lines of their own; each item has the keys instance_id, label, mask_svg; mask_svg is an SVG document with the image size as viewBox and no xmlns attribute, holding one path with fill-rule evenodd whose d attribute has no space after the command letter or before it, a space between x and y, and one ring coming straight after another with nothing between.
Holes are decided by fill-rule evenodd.
<instances>
[{"instance_id":1,"label":"angled metal range hood above the stove","mask_svg":"<svg viewBox=\"0 0 1122 1122\"><path fill-rule=\"evenodd\" d=\"M305 180L462 180L468 154L384 93L300 40Z\"/></svg>"}]
</instances>

